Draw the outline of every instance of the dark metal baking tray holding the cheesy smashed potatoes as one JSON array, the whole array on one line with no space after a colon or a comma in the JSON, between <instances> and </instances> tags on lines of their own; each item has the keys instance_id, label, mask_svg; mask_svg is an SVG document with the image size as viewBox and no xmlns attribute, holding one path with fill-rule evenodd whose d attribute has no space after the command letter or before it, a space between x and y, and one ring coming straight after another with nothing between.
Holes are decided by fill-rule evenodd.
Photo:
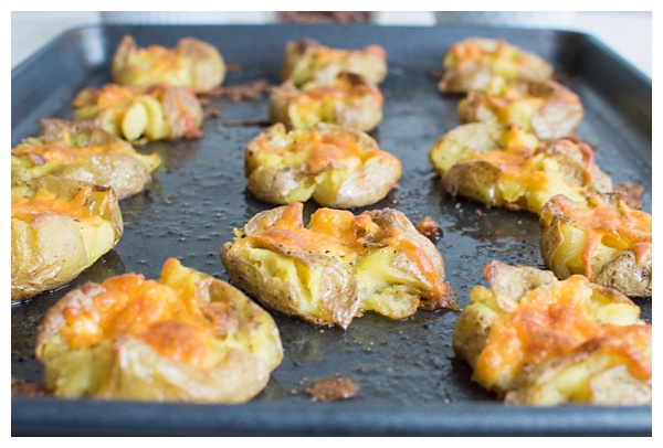
<instances>
[{"instance_id":1,"label":"dark metal baking tray holding the cheesy smashed potatoes","mask_svg":"<svg viewBox=\"0 0 663 448\"><path fill-rule=\"evenodd\" d=\"M561 31L373 25L91 26L72 30L12 71L12 146L39 132L42 117L70 118L83 87L109 81L108 61L119 39L171 46L179 38L211 42L240 72L225 85L257 78L277 83L284 44L314 38L340 47L382 45L389 75L382 84L385 118L372 135L403 163L399 189L373 209L391 206L417 223L433 217L443 231L436 242L448 280L461 306L483 284L481 267L499 259L543 266L538 222L443 196L428 151L459 125L459 98L441 97L431 72L445 50L464 38L502 38L550 61L580 96L586 117L578 134L597 145L597 161L615 183L642 183L644 210L652 204L651 79L593 38ZM117 247L72 285L12 307L12 375L40 383L34 338L41 318L66 291L129 271L159 275L168 257L227 279L219 258L232 228L270 205L245 189L243 148L262 128L225 126L267 117L266 97L232 104L217 98L220 118L207 119L204 138L156 142L145 151L164 159L152 184L122 202L125 233ZM307 213L315 209L307 204ZM356 210L360 212L361 210ZM639 300L651 321L651 300ZM404 321L375 314L347 331L316 328L274 314L285 358L267 388L241 406L66 401L12 396L12 435L638 435L650 436L651 407L505 406L470 381L469 366L454 359L451 331L457 311L419 311ZM312 402L312 381L343 374L359 384L352 399Z\"/></svg>"}]
</instances>

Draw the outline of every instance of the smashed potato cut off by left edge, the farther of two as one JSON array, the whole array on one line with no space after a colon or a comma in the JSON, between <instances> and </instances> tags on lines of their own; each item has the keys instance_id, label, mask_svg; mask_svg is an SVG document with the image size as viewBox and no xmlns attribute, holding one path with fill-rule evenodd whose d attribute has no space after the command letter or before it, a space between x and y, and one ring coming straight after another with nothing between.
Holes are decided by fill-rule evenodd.
<instances>
[{"instance_id":1,"label":"smashed potato cut off by left edge, the farther of two","mask_svg":"<svg viewBox=\"0 0 663 448\"><path fill-rule=\"evenodd\" d=\"M39 138L11 150L12 186L27 179L51 175L112 186L118 199L143 191L161 162L144 156L123 139L90 124L42 120Z\"/></svg>"}]
</instances>

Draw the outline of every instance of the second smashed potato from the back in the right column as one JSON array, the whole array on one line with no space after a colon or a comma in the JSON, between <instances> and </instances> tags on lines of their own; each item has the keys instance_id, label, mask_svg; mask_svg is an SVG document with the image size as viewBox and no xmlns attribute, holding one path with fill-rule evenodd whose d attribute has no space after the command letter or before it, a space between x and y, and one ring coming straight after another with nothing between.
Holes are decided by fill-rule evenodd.
<instances>
[{"instance_id":1,"label":"second smashed potato from the back in the right column","mask_svg":"<svg viewBox=\"0 0 663 448\"><path fill-rule=\"evenodd\" d=\"M464 122L514 124L541 140L571 136L583 114L578 95L554 81L497 76L485 89L472 90L459 103Z\"/></svg>"}]
</instances>

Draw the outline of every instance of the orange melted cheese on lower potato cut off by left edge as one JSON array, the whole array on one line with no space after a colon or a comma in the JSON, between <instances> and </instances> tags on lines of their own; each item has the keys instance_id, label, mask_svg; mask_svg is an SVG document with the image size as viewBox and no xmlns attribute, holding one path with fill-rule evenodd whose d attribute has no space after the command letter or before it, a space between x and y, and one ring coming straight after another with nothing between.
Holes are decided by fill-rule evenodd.
<instances>
[{"instance_id":1,"label":"orange melted cheese on lower potato cut off by left edge","mask_svg":"<svg viewBox=\"0 0 663 448\"><path fill-rule=\"evenodd\" d=\"M97 218L86 205L93 193L92 185L86 185L76 195L67 201L57 198L48 190L39 189L32 198L11 196L11 217L23 222L31 222L44 212L67 215L77 221ZM101 210L107 209L107 196L99 204Z\"/></svg>"}]
</instances>

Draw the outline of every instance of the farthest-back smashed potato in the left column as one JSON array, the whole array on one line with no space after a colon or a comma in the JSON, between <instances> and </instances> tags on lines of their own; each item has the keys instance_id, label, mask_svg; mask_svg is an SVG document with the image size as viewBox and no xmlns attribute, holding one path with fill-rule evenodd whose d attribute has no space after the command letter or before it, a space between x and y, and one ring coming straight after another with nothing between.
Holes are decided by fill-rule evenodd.
<instances>
[{"instance_id":1,"label":"farthest-back smashed potato in the left column","mask_svg":"<svg viewBox=\"0 0 663 448\"><path fill-rule=\"evenodd\" d=\"M141 49L125 35L113 55L110 75L122 85L168 84L206 93L223 82L225 62L214 46L194 38L180 39L173 49Z\"/></svg>"}]
</instances>

